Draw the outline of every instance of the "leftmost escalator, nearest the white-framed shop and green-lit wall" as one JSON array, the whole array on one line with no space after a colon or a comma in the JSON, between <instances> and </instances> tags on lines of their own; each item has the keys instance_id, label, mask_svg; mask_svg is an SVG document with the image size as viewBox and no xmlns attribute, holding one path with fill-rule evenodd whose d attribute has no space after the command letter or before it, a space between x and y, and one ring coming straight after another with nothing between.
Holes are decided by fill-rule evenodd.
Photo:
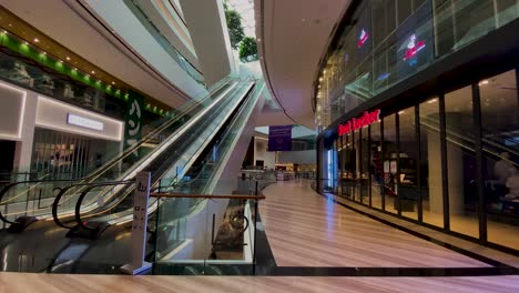
<instances>
[{"instance_id":1,"label":"leftmost escalator, nearest the white-framed shop and green-lit wall","mask_svg":"<svg viewBox=\"0 0 519 293\"><path fill-rule=\"evenodd\" d=\"M84 184L92 182L120 181L124 176L128 178L128 171L142 169L143 160L162 151L171 140L164 139L151 151L147 151L150 141L156 140L156 138L172 138L176 133L185 131L185 129L189 129L190 123L201 120L216 104L225 101L224 98L237 90L237 85L238 81L236 79L224 79L216 83L204 99L194 99L187 102L172 118L152 122L147 127L152 127L154 130L140 141L134 142L132 146L122 153L106 154L105 156L113 159L101 168L91 170L86 178L20 181L7 184L0 191L0 219L4 226L10 224L11 228L14 228L12 229L14 232L19 232L35 220L52 218L51 208L54 198L64 188L71 185L84 186ZM135 154L139 156L135 156ZM132 174L130 173L130 176ZM75 200L82 191L83 188L68 189L68 193L63 194L64 201L60 202L59 212L65 216L73 215Z\"/></svg>"}]
</instances>

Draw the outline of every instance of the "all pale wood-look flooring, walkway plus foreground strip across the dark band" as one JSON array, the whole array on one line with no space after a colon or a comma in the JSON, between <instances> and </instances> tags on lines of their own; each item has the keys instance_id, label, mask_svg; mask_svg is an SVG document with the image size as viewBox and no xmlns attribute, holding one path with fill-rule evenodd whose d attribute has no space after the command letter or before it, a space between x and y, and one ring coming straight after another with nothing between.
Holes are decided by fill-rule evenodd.
<instances>
[{"instance_id":1,"label":"all pale wood-look flooring, walkway plus foreground strip across the dark band","mask_svg":"<svg viewBox=\"0 0 519 293\"><path fill-rule=\"evenodd\" d=\"M307 183L264 191L260 211L278 266L486 267L485 263L328 201ZM126 276L0 273L3 292L519 292L519 275L460 277Z\"/></svg>"}]
</instances>

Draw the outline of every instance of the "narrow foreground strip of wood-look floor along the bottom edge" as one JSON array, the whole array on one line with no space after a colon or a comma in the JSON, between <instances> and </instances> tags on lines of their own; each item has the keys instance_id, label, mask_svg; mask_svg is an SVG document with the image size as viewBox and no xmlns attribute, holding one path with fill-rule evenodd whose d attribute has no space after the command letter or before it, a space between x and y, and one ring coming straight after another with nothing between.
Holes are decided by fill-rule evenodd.
<instances>
[{"instance_id":1,"label":"narrow foreground strip of wood-look floor along the bottom edge","mask_svg":"<svg viewBox=\"0 0 519 293\"><path fill-rule=\"evenodd\" d=\"M0 273L0 292L519 292L519 276L123 276Z\"/></svg>"}]
</instances>

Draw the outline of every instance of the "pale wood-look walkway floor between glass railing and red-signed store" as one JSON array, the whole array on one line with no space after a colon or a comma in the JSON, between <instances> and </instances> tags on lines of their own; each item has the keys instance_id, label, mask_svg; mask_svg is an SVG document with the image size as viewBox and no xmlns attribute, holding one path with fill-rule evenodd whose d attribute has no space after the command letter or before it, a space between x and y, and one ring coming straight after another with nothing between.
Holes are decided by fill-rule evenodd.
<instances>
[{"instance_id":1,"label":"pale wood-look walkway floor between glass railing and red-signed store","mask_svg":"<svg viewBox=\"0 0 519 293\"><path fill-rule=\"evenodd\" d=\"M308 181L282 181L263 193L260 212L279 266L488 266L337 205Z\"/></svg>"}]
</instances>

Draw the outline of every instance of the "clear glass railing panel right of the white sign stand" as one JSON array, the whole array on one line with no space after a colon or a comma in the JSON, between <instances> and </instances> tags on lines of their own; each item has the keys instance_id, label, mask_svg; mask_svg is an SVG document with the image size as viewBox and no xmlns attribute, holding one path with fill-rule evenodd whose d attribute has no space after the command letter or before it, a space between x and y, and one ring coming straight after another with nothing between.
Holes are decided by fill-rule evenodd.
<instances>
[{"instance_id":1,"label":"clear glass railing panel right of the white sign stand","mask_svg":"<svg viewBox=\"0 0 519 293\"><path fill-rule=\"evenodd\" d=\"M218 184L234 184L232 193L238 193L236 181ZM256 200L227 195L159 200L154 273L253 273Z\"/></svg>"}]
</instances>

